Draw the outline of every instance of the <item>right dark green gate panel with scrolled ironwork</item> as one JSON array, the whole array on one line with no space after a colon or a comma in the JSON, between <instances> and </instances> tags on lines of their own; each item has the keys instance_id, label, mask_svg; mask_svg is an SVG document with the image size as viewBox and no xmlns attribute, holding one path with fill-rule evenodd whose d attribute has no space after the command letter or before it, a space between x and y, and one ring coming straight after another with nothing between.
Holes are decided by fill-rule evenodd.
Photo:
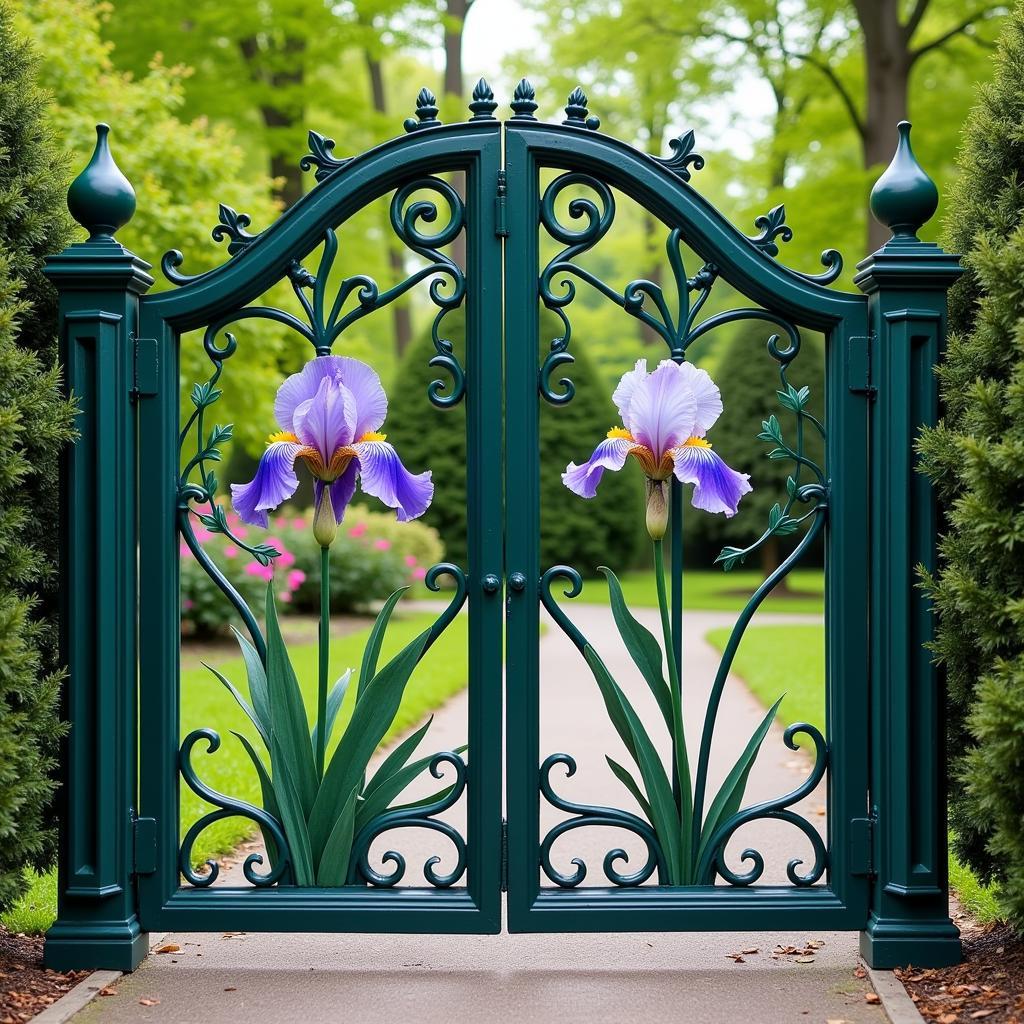
<instances>
[{"instance_id":1,"label":"right dark green gate panel with scrolled ironwork","mask_svg":"<svg viewBox=\"0 0 1024 1024\"><path fill-rule=\"evenodd\" d=\"M823 287L839 274L838 254L827 257L828 269L816 279L785 270L773 262L771 257L778 251L775 240L780 234L784 239L788 230L782 211L772 211L762 218L758 223L762 231L753 239L726 223L685 184L690 166L702 165L691 152L691 137L679 140L676 156L671 160L655 161L597 135L584 128L582 122L579 126L573 126L571 120L562 127L539 125L534 122L531 109L527 108L525 103L519 106L513 103L517 114L509 122L506 133L510 225L506 257L505 402L508 417L506 552L510 590L506 654L509 928L511 931L586 931L779 929L812 924L816 928L860 927L866 915L869 869L866 845L869 836L864 830L868 784L868 402L864 389L856 390L857 382L850 379L848 360L855 345L866 344L866 303L861 296L833 292ZM601 281L600 274L587 268L586 254L591 249L599 253L600 242L611 226L616 189L650 211L665 225L669 244L664 286L641 281L624 289ZM542 258L540 239L545 236L553 239L561 250L554 259ZM696 264L688 268L690 273L696 271L690 278L683 266L683 246L703 261L702 266ZM682 290L679 296L673 292L673 278ZM701 315L701 307L719 279L739 293L739 308ZM737 620L729 649L741 639L748 618L771 587L796 564L803 551L813 543L814 536L820 534L826 552L827 742L812 727L780 723L793 725L787 730L786 742L794 750L798 745L810 750L813 762L810 775L793 793L779 793L753 809L740 804L730 812L732 817L719 818L719 827L708 834L701 835L699 828L694 830L691 825L686 829L692 841L691 860L684 852L681 859L672 861L657 828L656 797L651 795L643 767L639 768L637 779L643 777L642 795L650 801L653 810L643 808L637 813L640 805L625 788L621 791L622 803L614 807L579 803L569 794L573 783L584 786L584 782L579 777L567 781L577 772L572 752L549 750L541 743L542 694L550 692L551 686L564 686L566 672L574 671L591 681L592 699L571 710L578 734L587 731L589 722L603 722L605 716L611 714L606 711L606 701L609 692L614 694L613 689L609 689L609 685L613 687L614 684L609 684L601 676L602 670L594 668L593 662L588 666L587 660L595 656L595 651L602 652L614 641L613 636L603 635L611 632L610 616L605 616L605 626L592 613L585 614L585 609L579 605L573 607L572 598L586 587L578 571L581 567L549 565L540 559L539 539L544 528L540 474L552 469L539 464L540 424L551 410L557 413L559 407L573 400L572 384L558 381L557 377L567 370L566 376L571 381L572 347L586 345L585 338L572 335L572 301L577 298L577 289L581 293L585 289L592 290L592 294L596 291L602 301L606 301L608 315L622 318L624 331L635 334L635 322L639 319L660 335L666 344L658 342L657 349L637 346L636 357L648 357L651 367L663 358L682 361L691 343L718 327L737 321L763 322L765 339L769 335L777 336L768 350L776 369L782 371L781 383L775 385L766 374L765 387L769 391L779 387L785 393L790 406L783 401L779 417L795 417L800 424L797 429L814 429L812 421L801 412L801 399L794 397L803 384L797 369L800 359L795 358L801 332L817 331L825 338L825 465L819 473L818 467L803 464L803 476L794 474L796 479L788 501L785 494L779 496L778 516L773 514L773 521L768 524L771 527L781 520L778 532L783 534L790 531L791 523L794 529L799 528L796 520L802 516L806 534L795 555L783 563L782 571L774 573L752 595L751 604ZM757 305L744 305L743 299L753 300ZM541 306L546 307L548 317L543 336L539 333ZM554 332L550 330L551 323L554 323ZM539 356L539 351L547 351L547 354ZM632 365L632 360L628 361ZM792 379L786 377L791 361ZM629 367L624 366L623 370L626 369ZM792 396L787 392L791 384ZM610 395L605 400L608 398ZM610 401L607 404L608 416L613 417ZM793 422L791 419L786 425L790 430L794 429ZM582 462L599 439L580 438L578 443L587 451L566 451L559 469L570 459ZM714 433L711 439L714 441ZM728 460L728 453L723 453L723 457ZM638 486L642 485L640 474L634 478ZM688 508L688 492L689 488L684 490L678 481L672 482L670 635L677 658L682 646L681 595L685 575L682 508L684 499ZM624 528L631 525L624 522ZM755 541L765 529L766 524L752 523L751 540ZM611 566L616 571L626 567ZM594 566L585 568L593 571ZM559 662L559 678L554 682L549 679L547 683L541 677L539 657L542 604L551 618L548 629L564 631L579 648L580 655L575 670L569 670L564 660ZM585 621L602 631L601 635L587 636ZM650 622L644 620L642 625L649 627L660 642L656 614ZM642 645L642 641L638 642ZM685 654L682 667L685 672ZM637 679L641 678L634 674ZM605 678L603 690L602 678ZM650 685L653 688L654 684ZM725 669L720 669L712 687L713 702L720 698L725 685ZM639 686L643 691L642 682ZM635 696L635 691L628 690L625 684L623 689L627 691L628 700L636 705L637 715L641 716L642 700L649 694ZM647 703L650 707L643 709L644 716L652 711L653 720L641 716L642 724L652 735L658 727L665 731L656 703L650 699ZM702 706L687 708L687 721L696 715L698 722L705 723L702 734L699 728L695 734L692 727L687 730L691 733L689 770L698 804L693 814L697 821L707 820L699 809L701 795L702 812L714 812L717 785L712 777L714 771L709 773L709 759L715 743L715 714L709 713L705 721L705 711ZM564 708L562 712L564 717ZM628 719L631 712L621 714ZM665 711L665 714L668 716L670 712ZM720 721L719 734L728 727L729 723ZM621 736L623 728L622 723L616 725ZM625 728L639 742L628 722ZM771 739L769 736L766 742ZM775 756L786 754L784 749L772 753ZM626 756L625 752L616 753L615 750L608 750L607 754L615 758ZM649 760L647 764L650 767ZM636 759L628 761L627 771L637 773L637 765ZM610 771L616 770L621 775L625 772L617 765L607 770L611 780L609 786L614 786L616 783ZM679 794L685 787L678 782L678 772L674 776L678 814ZM798 781L801 778L802 773L798 774ZM798 799L810 793L827 802L827 826L822 840L817 839L817 830L811 822L790 809ZM668 799L672 799L671 794ZM560 812L554 817L552 805ZM684 810L684 820L685 814ZM757 819L784 822L800 841L794 855L803 855L807 863L791 863L785 870L782 870L784 865L774 865L775 877L781 872L783 884L759 885L758 880L766 868L761 854L743 851L741 845L736 847L732 843L733 833L739 831L741 843L742 826ZM587 828L617 829L618 835L607 831L601 855L594 857L590 851L590 856L572 859L570 863L578 852L570 837L579 837ZM623 842L623 836L627 837L627 842ZM562 839L562 852L558 853L556 842L562 837L566 838ZM703 842L708 849L701 852ZM614 852L613 848L620 844L627 856L623 856L622 849ZM810 851L810 856L805 850ZM605 854L604 851L609 852ZM602 856L604 879L594 885L602 869ZM674 863L677 866L673 866ZM770 878L771 873L769 867L765 878Z\"/></svg>"}]
</instances>

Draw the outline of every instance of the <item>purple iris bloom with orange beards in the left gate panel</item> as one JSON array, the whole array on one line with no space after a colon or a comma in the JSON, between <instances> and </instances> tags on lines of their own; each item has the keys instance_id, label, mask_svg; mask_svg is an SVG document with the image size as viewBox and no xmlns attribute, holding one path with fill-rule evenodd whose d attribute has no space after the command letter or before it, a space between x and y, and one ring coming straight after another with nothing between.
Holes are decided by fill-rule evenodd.
<instances>
[{"instance_id":1,"label":"purple iris bloom with orange beards in the left gate panel","mask_svg":"<svg viewBox=\"0 0 1024 1024\"><path fill-rule=\"evenodd\" d=\"M295 494L296 460L313 475L316 519L333 512L328 536L345 515L356 477L368 495L395 509L401 522L423 515L430 505L430 471L410 473L386 435L377 432L387 395L365 362L343 355L310 359L278 389L273 414L282 429L268 438L256 476L231 484L231 504L246 522L265 527L267 512Z\"/></svg>"}]
</instances>

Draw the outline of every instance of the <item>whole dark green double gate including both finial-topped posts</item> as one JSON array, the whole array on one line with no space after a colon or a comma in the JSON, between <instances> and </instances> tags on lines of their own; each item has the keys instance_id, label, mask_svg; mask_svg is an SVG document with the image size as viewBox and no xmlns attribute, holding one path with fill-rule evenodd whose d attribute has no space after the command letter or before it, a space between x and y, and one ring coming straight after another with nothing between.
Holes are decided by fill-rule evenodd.
<instances>
[{"instance_id":1,"label":"whole dark green double gate including both finial-topped posts","mask_svg":"<svg viewBox=\"0 0 1024 1024\"><path fill-rule=\"evenodd\" d=\"M510 120L496 119L497 105L481 82L469 121L442 125L424 90L404 136L351 159L310 133L302 164L317 184L258 234L246 230L248 218L222 207L214 233L227 239L230 258L189 276L179 269L181 254L169 253L162 270L174 287L154 294L146 294L148 265L114 239L134 199L101 126L93 161L70 196L90 238L47 264L60 293L63 362L81 431L66 473L73 728L49 963L131 968L146 933L170 929L497 932L503 892L510 931L848 929L861 931L865 955L878 966L955 959L958 940L946 909L942 698L922 647L929 612L914 577L919 563L933 560L935 524L912 444L918 427L936 414L932 367L944 336L945 291L958 267L955 257L916 238L934 212L934 186L913 162L907 129L901 126L897 157L872 197L893 239L860 265L857 294L827 287L842 269L834 251L817 275L777 262L778 243L792 233L781 208L759 218L754 236L728 223L691 184L703 166L692 133L657 159L601 134L579 90L557 125L538 121L525 81ZM407 275L381 288L365 275L332 274L339 228L388 196ZM664 232L667 256L656 281L623 286L600 275L616 201L638 205ZM464 260L455 256L463 252ZM294 302L283 308L261 300L283 282ZM393 872L367 861L347 885L302 887L281 872L266 884L253 859L244 880L210 885L209 873L191 864L203 827L232 814L265 825L268 811L202 781L219 737L200 730L181 741L182 543L223 590L225 615L233 604L257 646L260 635L194 528L202 514L215 532L231 529L202 460L182 456L196 424L181 422L180 388L199 386L198 408L216 389L244 388L229 369L245 346L247 322L270 319L295 331L312 346L307 357L332 346L343 352L348 325L384 316L385 307L418 290L432 304L430 364L439 372L422 400L465 410L468 555L463 565L432 568L427 582L446 605L438 631L466 606L468 755L438 754L431 765L438 775L450 773L444 801L404 815L386 812L362 839L369 856L385 831L426 828L453 844L452 863L441 872L431 858L423 884L395 885L406 859L396 851L384 855L401 865ZM700 742L692 744L688 794L702 856L694 845L675 872L642 797L634 802L622 790L617 806L569 800L572 751L542 743L543 609L547 629L563 631L579 648L577 669L587 679L590 642L600 647L603 639L586 637L575 621L581 567L541 560L540 481L555 468L541 465L540 424L575 398L573 349L586 338L573 334L573 324L585 292L591 306L599 301L603 315L618 318L624 337L638 339L624 370L640 355L682 362L719 328L760 325L767 354L762 343L752 358L771 368L775 383L766 388L777 389L780 400L778 418L764 424L766 439L775 458L794 464L769 521L750 524L750 551L796 535L792 553L738 614L707 708L687 707L702 726L694 733ZM722 302L720 293L741 298ZM707 312L706 303L716 311ZM445 330L460 308L464 346ZM640 347L640 325L656 338L653 345ZM815 333L824 339L823 422L806 411L801 390L801 345ZM204 347L205 381L180 379L185 345ZM199 429L202 450L202 420ZM805 430L823 437L820 466L804 453ZM585 454L567 451L565 462ZM667 636L685 676L686 494L678 481L671 489ZM702 815L712 813L709 760L716 736L732 727L716 717L736 644L816 537L825 559L826 729L781 723L790 726L785 743L810 755L799 763L792 791L727 808L714 835L701 837ZM733 554L735 561L740 549ZM440 589L444 577L452 589ZM581 728L605 715L596 685L593 694L579 708ZM770 732L766 741L777 748L781 737ZM770 757L794 755L773 750ZM182 836L184 784L211 809ZM676 772L677 809L686 804L681 785ZM799 804L811 794L827 812L824 823L808 820ZM456 800L464 809L458 827L437 816ZM679 813L687 831L690 821ZM729 845L758 821L788 828L794 846L803 844L784 870L766 865L757 849ZM590 863L588 884L581 884L588 858L571 858L574 838L588 828L618 829L634 843L629 855L608 850L599 885L599 864Z\"/></svg>"}]
</instances>

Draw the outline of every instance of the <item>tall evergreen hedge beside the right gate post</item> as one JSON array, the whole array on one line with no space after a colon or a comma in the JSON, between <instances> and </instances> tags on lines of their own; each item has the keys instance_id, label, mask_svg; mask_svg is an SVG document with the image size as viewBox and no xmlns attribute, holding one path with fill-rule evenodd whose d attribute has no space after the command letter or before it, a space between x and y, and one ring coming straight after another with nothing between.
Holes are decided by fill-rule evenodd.
<instances>
[{"instance_id":1,"label":"tall evergreen hedge beside the right gate post","mask_svg":"<svg viewBox=\"0 0 1024 1024\"><path fill-rule=\"evenodd\" d=\"M1024 926L1024 6L968 122L947 248L968 272L939 370L944 419L921 438L945 516L927 579L948 679L955 849Z\"/></svg>"}]
</instances>

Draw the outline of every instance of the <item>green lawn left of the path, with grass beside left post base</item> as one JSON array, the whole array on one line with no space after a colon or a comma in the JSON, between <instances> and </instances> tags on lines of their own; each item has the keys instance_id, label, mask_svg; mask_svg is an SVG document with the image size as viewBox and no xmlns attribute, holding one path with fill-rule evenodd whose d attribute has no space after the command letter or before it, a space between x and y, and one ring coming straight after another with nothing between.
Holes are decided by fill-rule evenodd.
<instances>
[{"instance_id":1,"label":"green lawn left of the path, with grass beside left post base","mask_svg":"<svg viewBox=\"0 0 1024 1024\"><path fill-rule=\"evenodd\" d=\"M434 617L433 614L399 617L396 613L391 620L384 641L381 664L383 665L385 658L426 629ZM368 622L366 629L332 641L333 678L340 676L349 667L358 671L369 632ZM316 703L316 645L295 646L291 650L291 656L295 673L302 684L306 708L312 713ZM245 666L241 657L214 657L211 664L230 679L243 693L248 692ZM414 673L394 724L385 736L385 742L422 722L431 711L459 692L465 685L466 617L460 615L431 647ZM349 693L351 692L350 690ZM218 793L259 805L259 782L242 744L231 735L231 730L245 733L254 741L257 749L260 749L260 743L249 720L211 672L202 667L182 670L181 710L182 736L201 726L220 733L220 749L214 754L207 755L206 744L203 742L197 743L194 750L193 765L200 778ZM350 714L350 702L346 700L338 716L331 749L337 745ZM424 738L424 749L430 745L429 732ZM185 829L201 814L210 809L205 801L200 800L182 783L181 835L184 835ZM253 831L253 827L252 822L245 818L226 818L215 822L199 837L195 847L196 859L203 860L233 849L242 839ZM0 922L12 932L44 932L56 915L54 873L42 877L30 874L30 889L25 896L0 918Z\"/></svg>"}]
</instances>

